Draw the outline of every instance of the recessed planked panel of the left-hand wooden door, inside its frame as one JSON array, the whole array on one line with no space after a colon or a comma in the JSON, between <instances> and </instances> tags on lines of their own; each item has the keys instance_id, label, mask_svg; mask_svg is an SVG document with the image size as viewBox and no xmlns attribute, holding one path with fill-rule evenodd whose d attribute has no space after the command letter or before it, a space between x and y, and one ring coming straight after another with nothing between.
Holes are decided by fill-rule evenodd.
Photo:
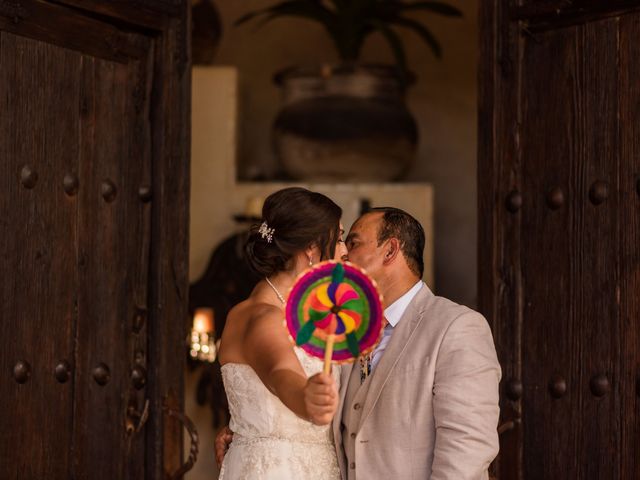
<instances>
[{"instance_id":1,"label":"recessed planked panel of the left-hand wooden door, inside its frame","mask_svg":"<svg viewBox=\"0 0 640 480\"><path fill-rule=\"evenodd\" d=\"M27 362L32 375L24 384L2 377L3 392L15 394L3 398L13 412L3 416L3 447L19 452L2 471L62 478L73 445L81 477L141 478L144 436L125 436L125 412L146 400L131 374L146 371L146 330L134 321L148 308L150 205L140 189L151 177L149 62L0 35L3 178L13 199L2 251L16 279L3 282L2 328L19 339L2 364ZM34 440L46 445L35 462Z\"/></svg>"}]
</instances>

